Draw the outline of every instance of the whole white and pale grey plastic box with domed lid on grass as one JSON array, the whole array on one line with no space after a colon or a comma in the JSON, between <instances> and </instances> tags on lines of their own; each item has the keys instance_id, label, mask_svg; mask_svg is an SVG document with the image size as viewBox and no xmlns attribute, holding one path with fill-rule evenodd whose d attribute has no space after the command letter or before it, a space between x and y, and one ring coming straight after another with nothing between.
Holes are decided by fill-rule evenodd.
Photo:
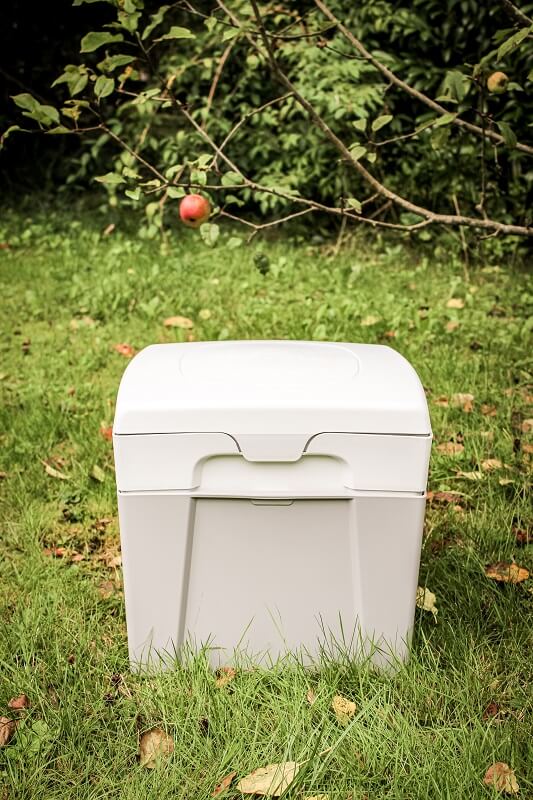
<instances>
[{"instance_id":1,"label":"whole white and pale grey plastic box with domed lid on grass","mask_svg":"<svg viewBox=\"0 0 533 800\"><path fill-rule=\"evenodd\" d=\"M208 648L268 664L405 658L431 447L381 345L152 345L113 430L133 668Z\"/></svg>"}]
</instances>

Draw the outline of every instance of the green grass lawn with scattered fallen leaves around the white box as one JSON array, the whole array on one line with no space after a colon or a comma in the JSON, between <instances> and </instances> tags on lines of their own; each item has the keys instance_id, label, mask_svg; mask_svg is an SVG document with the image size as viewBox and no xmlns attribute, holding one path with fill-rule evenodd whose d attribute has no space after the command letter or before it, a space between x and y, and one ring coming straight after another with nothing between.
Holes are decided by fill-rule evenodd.
<instances>
[{"instance_id":1,"label":"green grass lawn with scattered fallen leaves around the white box","mask_svg":"<svg viewBox=\"0 0 533 800\"><path fill-rule=\"evenodd\" d=\"M531 545L516 542L531 522L527 276L502 264L467 281L453 259L385 242L332 257L290 239L230 250L223 238L210 250L186 231L161 253L120 225L103 236L105 220L74 209L6 211L1 227L11 246L0 250L0 715L13 716L20 693L31 706L0 749L0 797L202 800L234 770L286 759L309 759L288 797L487 798L495 761L533 797L532 581L484 574L513 558L533 569ZM420 583L438 622L417 611L412 657L394 678L353 663L279 665L220 689L202 657L128 673L112 453L99 429L127 363L113 345L186 338L162 324L175 314L197 339L385 342L417 368L436 439L430 488L460 496L428 507ZM474 395L472 412L442 405L456 393ZM448 441L463 454L437 450ZM486 459L503 466L485 471ZM331 711L336 693L357 705L348 727ZM491 703L497 713L484 713ZM147 770L138 735L156 725L175 751ZM234 785L224 797L240 797Z\"/></svg>"}]
</instances>

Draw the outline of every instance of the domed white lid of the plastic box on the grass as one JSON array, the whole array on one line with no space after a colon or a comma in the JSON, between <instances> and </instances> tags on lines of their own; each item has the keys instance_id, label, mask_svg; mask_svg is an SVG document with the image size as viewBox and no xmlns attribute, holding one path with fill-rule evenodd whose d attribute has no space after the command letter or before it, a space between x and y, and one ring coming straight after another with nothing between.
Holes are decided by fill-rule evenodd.
<instances>
[{"instance_id":1,"label":"domed white lid of the plastic box on the grass","mask_svg":"<svg viewBox=\"0 0 533 800\"><path fill-rule=\"evenodd\" d=\"M323 431L428 434L420 380L381 345L244 341L151 345L124 373L116 434Z\"/></svg>"}]
</instances>

